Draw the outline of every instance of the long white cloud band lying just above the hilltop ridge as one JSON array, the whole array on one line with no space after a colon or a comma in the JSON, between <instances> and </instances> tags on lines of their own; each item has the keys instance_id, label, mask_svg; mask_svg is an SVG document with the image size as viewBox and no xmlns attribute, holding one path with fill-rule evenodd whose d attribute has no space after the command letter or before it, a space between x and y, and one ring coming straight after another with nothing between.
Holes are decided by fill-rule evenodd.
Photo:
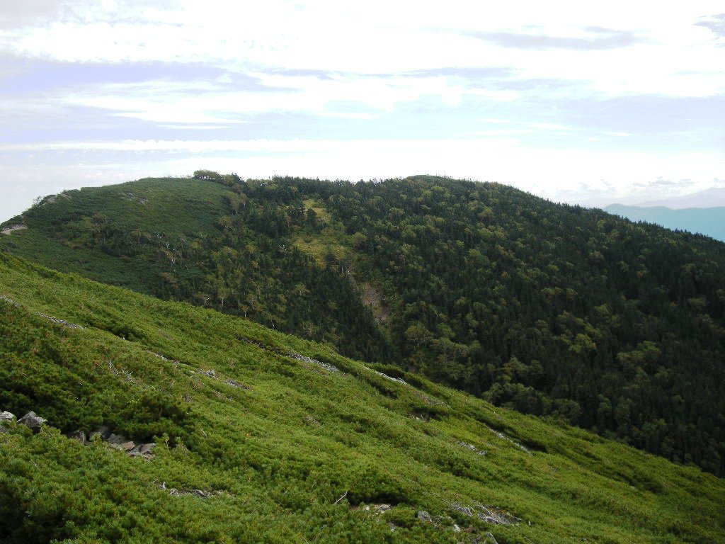
<instances>
[{"instance_id":1,"label":"long white cloud band lying just above the hilltop ridge","mask_svg":"<svg viewBox=\"0 0 725 544\"><path fill-rule=\"evenodd\" d=\"M615 194L662 176L691 180L705 188L725 171L725 157L704 153L581 152L525 147L508 138L436 140L121 140L2 144L0 152L83 152L88 162L104 153L157 153L154 172L186 174L202 165L244 176L387 178L413 173L500 181L568 200L584 196L582 184L606 184ZM92 153L96 152L94 156ZM91 153L91 154L89 154ZM621 162L626 162L626 173ZM117 159L113 160L117 163ZM151 175L149 172L148 175ZM550 184L556 179L557 184Z\"/></svg>"}]
</instances>

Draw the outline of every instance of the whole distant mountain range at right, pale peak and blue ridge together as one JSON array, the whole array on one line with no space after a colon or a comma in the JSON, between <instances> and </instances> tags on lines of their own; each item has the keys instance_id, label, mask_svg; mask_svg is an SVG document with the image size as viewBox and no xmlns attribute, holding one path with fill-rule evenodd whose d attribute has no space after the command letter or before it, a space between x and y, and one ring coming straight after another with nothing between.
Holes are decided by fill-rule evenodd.
<instances>
[{"instance_id":1,"label":"whole distant mountain range at right, pale peak and blue ridge together","mask_svg":"<svg viewBox=\"0 0 725 544\"><path fill-rule=\"evenodd\" d=\"M725 189L707 189L683 197L642 202L637 206L613 204L605 207L605 211L631 221L647 221L725 242Z\"/></svg>"}]
</instances>

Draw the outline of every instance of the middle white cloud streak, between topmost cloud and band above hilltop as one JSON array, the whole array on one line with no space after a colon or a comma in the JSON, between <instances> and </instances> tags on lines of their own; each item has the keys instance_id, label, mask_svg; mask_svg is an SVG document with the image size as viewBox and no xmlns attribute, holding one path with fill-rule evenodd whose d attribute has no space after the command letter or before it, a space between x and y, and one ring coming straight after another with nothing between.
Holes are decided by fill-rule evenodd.
<instances>
[{"instance_id":1,"label":"middle white cloud streak, between topmost cloud and band above hilltop","mask_svg":"<svg viewBox=\"0 0 725 544\"><path fill-rule=\"evenodd\" d=\"M351 119L370 119L376 112L392 112L397 104L434 97L455 107L464 96L509 102L515 91L465 88L443 76L405 78L251 73L268 91L236 90L213 82L99 84L60 91L54 102L94 107L128 118L156 123L236 123L241 117L264 112L312 113ZM16 98L8 107L35 104L36 97ZM334 109L344 103L348 110Z\"/></svg>"}]
</instances>

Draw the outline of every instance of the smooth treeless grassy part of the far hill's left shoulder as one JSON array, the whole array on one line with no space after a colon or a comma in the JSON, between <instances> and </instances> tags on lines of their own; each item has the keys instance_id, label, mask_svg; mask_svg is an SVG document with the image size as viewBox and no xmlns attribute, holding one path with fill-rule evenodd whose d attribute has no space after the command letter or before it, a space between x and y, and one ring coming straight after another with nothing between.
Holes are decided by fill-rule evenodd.
<instances>
[{"instance_id":1,"label":"smooth treeless grassy part of the far hill's left shoulder","mask_svg":"<svg viewBox=\"0 0 725 544\"><path fill-rule=\"evenodd\" d=\"M228 190L223 185L188 178L149 178L65 191L50 202L45 199L43 204L27 210L22 221L29 228L0 236L0 247L96 281L149 293L149 284L159 273L154 263L113 257L83 244L69 250L54 234L69 221L101 212L129 232L162 230L165 234L194 237L215 234L220 210L225 209L225 194Z\"/></svg>"}]
</instances>

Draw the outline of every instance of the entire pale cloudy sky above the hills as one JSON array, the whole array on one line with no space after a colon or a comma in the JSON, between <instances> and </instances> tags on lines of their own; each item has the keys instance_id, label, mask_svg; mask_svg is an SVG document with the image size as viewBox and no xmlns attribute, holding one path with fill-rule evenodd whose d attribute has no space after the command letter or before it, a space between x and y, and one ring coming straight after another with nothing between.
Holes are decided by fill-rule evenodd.
<instances>
[{"instance_id":1,"label":"entire pale cloudy sky above the hills","mask_svg":"<svg viewBox=\"0 0 725 544\"><path fill-rule=\"evenodd\" d=\"M2 0L0 221L197 168L725 186L725 4Z\"/></svg>"}]
</instances>

